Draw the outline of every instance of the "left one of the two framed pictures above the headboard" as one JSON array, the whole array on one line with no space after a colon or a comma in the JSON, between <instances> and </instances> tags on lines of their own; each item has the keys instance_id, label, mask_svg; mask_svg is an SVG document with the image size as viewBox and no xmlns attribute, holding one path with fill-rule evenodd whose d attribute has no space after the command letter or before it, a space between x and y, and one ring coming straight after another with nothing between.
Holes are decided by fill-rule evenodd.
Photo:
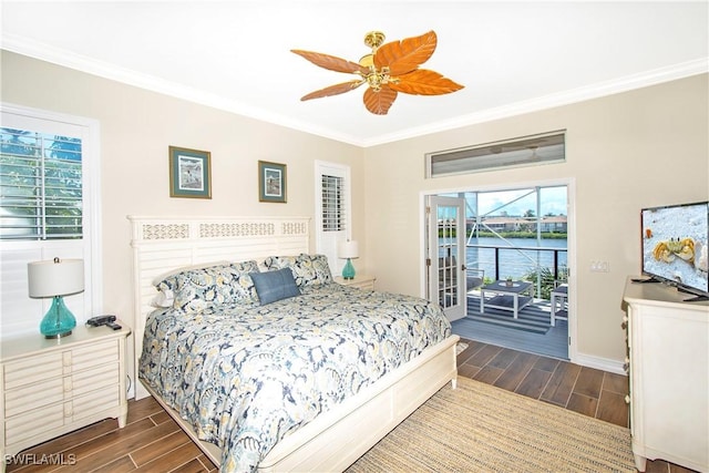
<instances>
[{"instance_id":1,"label":"left one of the two framed pictures above the headboard","mask_svg":"<svg viewBox=\"0 0 709 473\"><path fill-rule=\"evenodd\" d=\"M212 198L208 151L169 146L169 196Z\"/></svg>"}]
</instances>

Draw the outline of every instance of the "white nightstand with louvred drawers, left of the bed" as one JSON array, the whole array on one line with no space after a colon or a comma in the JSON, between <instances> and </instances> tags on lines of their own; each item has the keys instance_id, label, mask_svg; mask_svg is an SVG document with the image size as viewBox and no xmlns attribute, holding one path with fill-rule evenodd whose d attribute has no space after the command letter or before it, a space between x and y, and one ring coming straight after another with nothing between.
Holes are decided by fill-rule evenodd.
<instances>
[{"instance_id":1,"label":"white nightstand with louvred drawers, left of the bed","mask_svg":"<svg viewBox=\"0 0 709 473\"><path fill-rule=\"evenodd\" d=\"M78 326L59 340L39 332L3 339L1 457L106 418L125 426L130 333Z\"/></svg>"}]
</instances>

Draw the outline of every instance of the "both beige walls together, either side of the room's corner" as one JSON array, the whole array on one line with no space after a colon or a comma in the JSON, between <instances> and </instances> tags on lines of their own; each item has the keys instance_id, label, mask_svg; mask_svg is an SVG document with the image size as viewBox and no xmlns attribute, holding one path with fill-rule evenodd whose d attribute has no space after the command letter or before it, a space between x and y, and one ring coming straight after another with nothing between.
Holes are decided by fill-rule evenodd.
<instances>
[{"instance_id":1,"label":"both beige walls together, either side of the room's corner","mask_svg":"<svg viewBox=\"0 0 709 473\"><path fill-rule=\"evenodd\" d=\"M314 162L349 164L354 238L378 287L421 294L421 195L573 182L578 351L623 360L620 297L639 208L709 195L707 75L361 150L2 52L2 101L101 123L103 310L132 312L126 215L314 216ZM427 181L423 154L567 130L567 162ZM212 152L213 198L169 198L167 146ZM288 204L258 202L257 161L288 165ZM610 273L588 270L592 259Z\"/></svg>"}]
</instances>

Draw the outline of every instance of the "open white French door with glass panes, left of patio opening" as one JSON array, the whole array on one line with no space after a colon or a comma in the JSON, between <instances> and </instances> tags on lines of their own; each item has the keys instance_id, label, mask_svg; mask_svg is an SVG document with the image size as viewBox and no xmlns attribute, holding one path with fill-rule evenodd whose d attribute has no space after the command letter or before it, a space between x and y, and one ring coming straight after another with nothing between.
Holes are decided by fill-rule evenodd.
<instances>
[{"instance_id":1,"label":"open white French door with glass panes, left of patio opening","mask_svg":"<svg viewBox=\"0 0 709 473\"><path fill-rule=\"evenodd\" d=\"M429 196L429 297L443 308L449 320L465 317L465 199Z\"/></svg>"}]
</instances>

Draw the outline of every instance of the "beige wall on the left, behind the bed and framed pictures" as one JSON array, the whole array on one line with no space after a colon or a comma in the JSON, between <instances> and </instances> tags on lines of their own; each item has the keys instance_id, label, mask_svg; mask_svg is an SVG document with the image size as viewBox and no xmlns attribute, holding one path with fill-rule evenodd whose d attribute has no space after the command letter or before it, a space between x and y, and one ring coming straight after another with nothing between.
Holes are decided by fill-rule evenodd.
<instances>
[{"instance_id":1,"label":"beige wall on the left, behind the bed and framed pictures","mask_svg":"<svg viewBox=\"0 0 709 473\"><path fill-rule=\"evenodd\" d=\"M3 102L100 122L103 311L132 323L127 215L312 218L316 160L351 166L353 238L364 241L362 150L357 146L6 51L1 65ZM169 197L168 145L212 153L212 199ZM287 204L258 202L259 160L287 164Z\"/></svg>"}]
</instances>

